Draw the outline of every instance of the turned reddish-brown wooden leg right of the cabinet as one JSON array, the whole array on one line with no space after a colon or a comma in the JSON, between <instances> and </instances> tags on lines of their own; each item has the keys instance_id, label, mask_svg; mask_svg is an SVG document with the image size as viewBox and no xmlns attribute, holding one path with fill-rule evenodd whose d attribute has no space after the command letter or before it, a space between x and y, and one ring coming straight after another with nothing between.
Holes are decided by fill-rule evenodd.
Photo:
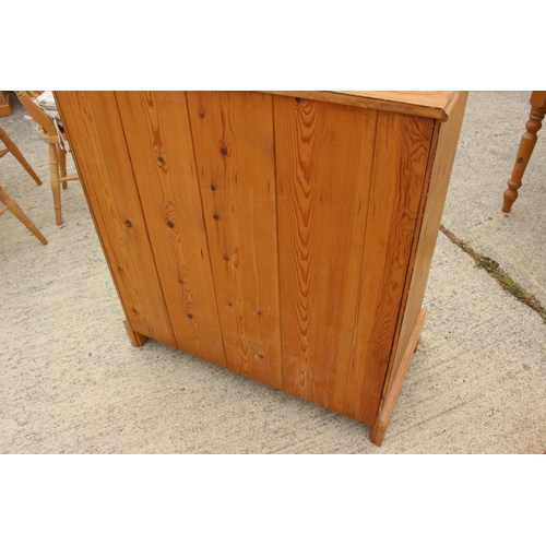
<instances>
[{"instance_id":1,"label":"turned reddish-brown wooden leg right of the cabinet","mask_svg":"<svg viewBox=\"0 0 546 546\"><path fill-rule=\"evenodd\" d=\"M531 94L531 112L525 123L525 133L520 141L518 155L512 169L512 176L508 180L508 189L505 191L502 212L510 212L513 202L518 199L518 190L521 188L521 179L527 167L529 159L536 144L536 133L542 127L546 114L546 92L533 91Z\"/></svg>"}]
</instances>

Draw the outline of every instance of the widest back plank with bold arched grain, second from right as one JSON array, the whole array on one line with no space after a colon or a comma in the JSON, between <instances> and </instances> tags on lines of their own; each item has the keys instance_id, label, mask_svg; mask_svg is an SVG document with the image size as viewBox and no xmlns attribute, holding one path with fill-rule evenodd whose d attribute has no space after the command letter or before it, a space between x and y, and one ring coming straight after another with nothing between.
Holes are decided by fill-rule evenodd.
<instances>
[{"instance_id":1,"label":"widest back plank with bold arched grain, second from right","mask_svg":"<svg viewBox=\"0 0 546 546\"><path fill-rule=\"evenodd\" d=\"M283 390L344 406L377 112L274 97Z\"/></svg>"}]
</instances>

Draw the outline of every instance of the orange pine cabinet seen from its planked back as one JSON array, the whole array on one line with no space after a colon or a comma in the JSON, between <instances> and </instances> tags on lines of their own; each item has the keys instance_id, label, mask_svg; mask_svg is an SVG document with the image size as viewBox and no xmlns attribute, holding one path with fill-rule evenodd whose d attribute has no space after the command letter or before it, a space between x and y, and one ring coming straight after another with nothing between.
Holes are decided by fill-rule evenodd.
<instances>
[{"instance_id":1,"label":"orange pine cabinet seen from its planked back","mask_svg":"<svg viewBox=\"0 0 546 546\"><path fill-rule=\"evenodd\" d=\"M463 92L57 92L133 344L370 425L425 319Z\"/></svg>"}]
</instances>

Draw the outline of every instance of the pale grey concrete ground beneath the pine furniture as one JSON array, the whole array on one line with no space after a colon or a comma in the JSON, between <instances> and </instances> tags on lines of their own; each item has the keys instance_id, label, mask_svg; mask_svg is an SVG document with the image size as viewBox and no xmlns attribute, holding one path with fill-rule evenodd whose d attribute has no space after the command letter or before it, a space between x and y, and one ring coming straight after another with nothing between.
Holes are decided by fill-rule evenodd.
<instances>
[{"instance_id":1,"label":"pale grey concrete ground beneath the pine furniture","mask_svg":"<svg viewBox=\"0 0 546 546\"><path fill-rule=\"evenodd\" d=\"M500 212L530 92L472 92L442 223L546 304L546 139ZM546 324L439 234L429 313L381 448L368 427L150 341L132 347L79 182L55 225L47 151L15 103L0 185L1 453L542 453Z\"/></svg>"}]
</instances>

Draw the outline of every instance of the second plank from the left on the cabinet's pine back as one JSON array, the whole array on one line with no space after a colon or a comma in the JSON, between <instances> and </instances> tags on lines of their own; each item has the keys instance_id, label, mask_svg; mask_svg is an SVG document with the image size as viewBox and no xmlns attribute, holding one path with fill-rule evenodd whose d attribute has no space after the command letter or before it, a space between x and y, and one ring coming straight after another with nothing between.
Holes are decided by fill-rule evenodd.
<instances>
[{"instance_id":1,"label":"second plank from the left on the cabinet's pine back","mask_svg":"<svg viewBox=\"0 0 546 546\"><path fill-rule=\"evenodd\" d=\"M225 366L183 92L117 92L178 348Z\"/></svg>"}]
</instances>

